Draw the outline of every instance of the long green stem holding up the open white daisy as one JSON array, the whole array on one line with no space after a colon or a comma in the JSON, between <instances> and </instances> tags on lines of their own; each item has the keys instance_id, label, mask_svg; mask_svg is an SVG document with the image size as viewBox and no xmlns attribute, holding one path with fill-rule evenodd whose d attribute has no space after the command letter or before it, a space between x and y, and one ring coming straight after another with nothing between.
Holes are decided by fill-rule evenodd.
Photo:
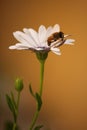
<instances>
[{"instance_id":1,"label":"long green stem holding up the open white daisy","mask_svg":"<svg viewBox=\"0 0 87 130\"><path fill-rule=\"evenodd\" d=\"M40 97L42 96L42 90L43 90L43 78L44 78L44 63L45 63L45 60L42 60L40 61L40 89L39 89L39 95ZM37 118L38 118L38 115L39 115L39 110L38 110L38 105L37 105L37 109L36 109L36 112L33 116L33 119L32 119L32 122L31 122L31 125L30 125L30 128L29 130L33 130L33 127L37 121Z\"/></svg>"}]
</instances>

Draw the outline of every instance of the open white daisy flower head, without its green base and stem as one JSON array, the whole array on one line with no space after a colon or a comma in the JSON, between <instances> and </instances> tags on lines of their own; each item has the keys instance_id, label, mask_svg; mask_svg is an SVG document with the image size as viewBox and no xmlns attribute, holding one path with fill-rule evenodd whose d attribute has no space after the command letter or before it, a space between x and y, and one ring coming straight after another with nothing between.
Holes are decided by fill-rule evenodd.
<instances>
[{"instance_id":1,"label":"open white daisy flower head, without its green base and stem","mask_svg":"<svg viewBox=\"0 0 87 130\"><path fill-rule=\"evenodd\" d=\"M62 44L70 44L73 45L74 39L67 39L69 35L64 35L61 37L54 37L54 33L60 32L60 26L55 24L53 27L49 26L47 29L44 25L41 25L36 32L32 28L24 28L23 32L16 31L13 33L14 37L19 41L15 45L9 47L9 49L17 49L17 50L32 50L34 52L49 52L60 55L60 49L58 48ZM55 39L56 38L56 39ZM48 44L48 39L50 40L50 44Z\"/></svg>"}]
</instances>

